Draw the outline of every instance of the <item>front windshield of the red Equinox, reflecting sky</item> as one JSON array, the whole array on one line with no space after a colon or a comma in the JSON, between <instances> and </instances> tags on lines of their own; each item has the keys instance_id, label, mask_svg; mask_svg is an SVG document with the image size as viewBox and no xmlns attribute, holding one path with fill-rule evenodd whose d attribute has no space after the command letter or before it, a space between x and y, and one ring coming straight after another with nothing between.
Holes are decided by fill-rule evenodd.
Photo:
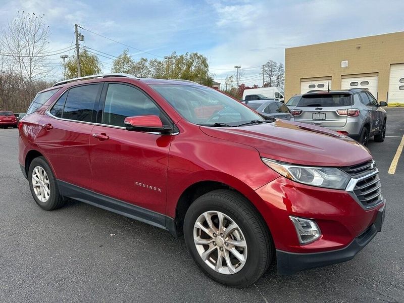
<instances>
[{"instance_id":1,"label":"front windshield of the red Equinox, reflecting sky","mask_svg":"<svg viewBox=\"0 0 404 303\"><path fill-rule=\"evenodd\" d=\"M252 120L264 121L257 113L227 95L206 87L150 84L186 120L198 125L225 123L237 126Z\"/></svg>"}]
</instances>

